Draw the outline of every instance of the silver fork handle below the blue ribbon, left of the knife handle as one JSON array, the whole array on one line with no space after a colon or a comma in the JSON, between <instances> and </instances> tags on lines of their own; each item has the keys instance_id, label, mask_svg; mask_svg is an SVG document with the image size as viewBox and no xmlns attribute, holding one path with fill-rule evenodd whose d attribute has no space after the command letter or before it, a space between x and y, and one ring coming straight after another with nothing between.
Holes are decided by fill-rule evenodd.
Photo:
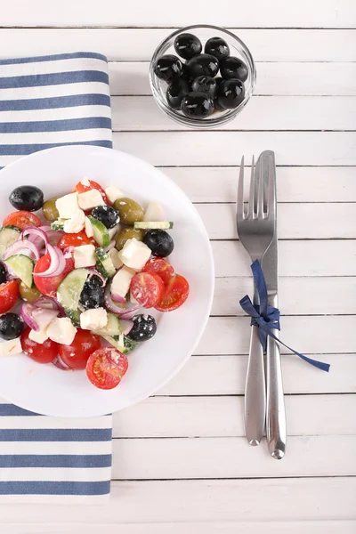
<instances>
[{"instance_id":1,"label":"silver fork handle below the blue ribbon, left of the knife handle","mask_svg":"<svg viewBox=\"0 0 356 534\"><path fill-rule=\"evenodd\" d=\"M250 445L259 445L266 419L266 384L264 379L263 347L258 328L251 327L245 387L245 430Z\"/></svg>"}]
</instances>

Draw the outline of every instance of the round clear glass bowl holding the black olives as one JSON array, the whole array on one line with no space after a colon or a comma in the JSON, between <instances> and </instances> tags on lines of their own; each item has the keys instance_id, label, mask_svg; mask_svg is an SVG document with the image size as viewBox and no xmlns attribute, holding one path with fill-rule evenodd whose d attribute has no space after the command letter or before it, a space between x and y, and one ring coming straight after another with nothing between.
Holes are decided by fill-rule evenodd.
<instances>
[{"instance_id":1,"label":"round clear glass bowl holding the black olives","mask_svg":"<svg viewBox=\"0 0 356 534\"><path fill-rule=\"evenodd\" d=\"M206 118L192 118L185 117L185 115L182 114L181 110L172 109L168 105L166 101L166 90L168 85L165 81L159 79L156 76L154 72L154 67L161 56L167 53L177 55L174 50L174 39L176 36L179 36L180 34L185 32L192 33L200 39L203 45L202 53L204 52L204 46L206 44L207 39L209 39L210 37L222 37L227 42L227 44L229 44L230 55L238 57L247 65L248 77L246 82L244 82L245 98L237 108L223 109L223 111L215 110L212 115ZM180 60L184 62L182 58L180 58ZM174 33L172 33L170 36L167 36L166 39L158 45L155 53L152 56L152 60L150 61L150 86L154 99L158 104L158 108L165 111L165 113L169 117L173 118L176 122L180 123L181 125L188 126L190 128L214 128L231 121L239 114L242 109L245 108L251 95L254 93L255 79L255 62L250 51L247 48L247 45L243 43L238 36L235 36L233 33L231 33L231 31L228 31L227 29L223 28L218 28L217 26L198 24L196 26L187 26L186 28L181 28L174 31Z\"/></svg>"}]
</instances>

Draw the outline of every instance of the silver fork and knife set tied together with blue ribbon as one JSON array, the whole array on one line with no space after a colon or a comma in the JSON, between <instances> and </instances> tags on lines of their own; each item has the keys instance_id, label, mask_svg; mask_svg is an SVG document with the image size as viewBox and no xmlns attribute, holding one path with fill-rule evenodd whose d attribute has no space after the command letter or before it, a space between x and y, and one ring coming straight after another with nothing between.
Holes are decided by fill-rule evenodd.
<instances>
[{"instance_id":1,"label":"silver fork and knife set tied together with blue ribbon","mask_svg":"<svg viewBox=\"0 0 356 534\"><path fill-rule=\"evenodd\" d=\"M267 286L267 305L278 308L278 238L276 166L274 152L265 150L253 158L247 206L244 203L244 158L239 172L236 223L239 240L263 268ZM254 306L259 295L254 289ZM277 326L277 325L276 325ZM286 451L287 430L280 365L279 344L267 336L265 351L259 328L251 326L245 390L245 428L247 441L256 446L263 439L265 429L271 457L281 459ZM271 333L279 337L279 329ZM264 353L265 352L265 353Z\"/></svg>"}]
</instances>

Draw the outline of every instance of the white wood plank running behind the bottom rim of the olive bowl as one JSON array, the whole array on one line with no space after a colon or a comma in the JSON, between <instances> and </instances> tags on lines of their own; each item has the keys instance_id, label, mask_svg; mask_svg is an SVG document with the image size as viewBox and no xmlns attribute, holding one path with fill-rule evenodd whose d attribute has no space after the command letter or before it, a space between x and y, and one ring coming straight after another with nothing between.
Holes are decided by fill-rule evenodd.
<instances>
[{"instance_id":1,"label":"white wood plank running behind the bottom rim of the olive bowl","mask_svg":"<svg viewBox=\"0 0 356 534\"><path fill-rule=\"evenodd\" d=\"M111 99L115 132L186 130L162 113L153 96ZM255 96L243 112L217 130L355 130L356 97Z\"/></svg>"}]
</instances>

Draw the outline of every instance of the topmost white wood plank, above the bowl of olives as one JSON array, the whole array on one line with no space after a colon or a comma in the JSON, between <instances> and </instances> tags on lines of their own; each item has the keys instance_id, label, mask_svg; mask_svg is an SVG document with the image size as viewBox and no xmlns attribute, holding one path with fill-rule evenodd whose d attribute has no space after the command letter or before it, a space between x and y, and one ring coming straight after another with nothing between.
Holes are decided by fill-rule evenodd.
<instances>
[{"instance_id":1,"label":"topmost white wood plank, above the bowl of olives","mask_svg":"<svg viewBox=\"0 0 356 534\"><path fill-rule=\"evenodd\" d=\"M285 10L283 0L272 0L267 6L263 0L255 0L241 10L234 2L227 2L223 10L206 10L204 2L191 4L182 0L179 9L167 10L164 0L156 0L155 8L140 0L127 4L125 10L115 0L93 0L73 3L62 0L51 8L44 0L32 0L30 6L24 0L13 0L1 20L3 26L186 26L201 23L229 26L231 20L239 20L239 27L254 28L353 28L356 10L350 0L328 0L320 9L318 3L301 0L298 7Z\"/></svg>"}]
</instances>

